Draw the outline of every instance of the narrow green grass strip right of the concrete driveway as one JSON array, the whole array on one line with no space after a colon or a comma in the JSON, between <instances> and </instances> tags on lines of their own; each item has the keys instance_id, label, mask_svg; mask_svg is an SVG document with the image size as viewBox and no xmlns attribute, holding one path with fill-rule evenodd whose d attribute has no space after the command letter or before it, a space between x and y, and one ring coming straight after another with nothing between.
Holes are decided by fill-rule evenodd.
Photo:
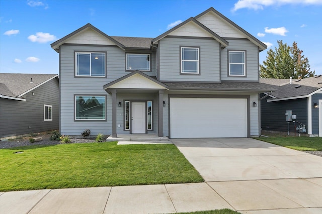
<instances>
[{"instance_id":1,"label":"narrow green grass strip right of the concrete driveway","mask_svg":"<svg viewBox=\"0 0 322 214\"><path fill-rule=\"evenodd\" d=\"M257 137L257 140L273 143L299 151L322 151L321 137Z\"/></svg>"}]
</instances>

